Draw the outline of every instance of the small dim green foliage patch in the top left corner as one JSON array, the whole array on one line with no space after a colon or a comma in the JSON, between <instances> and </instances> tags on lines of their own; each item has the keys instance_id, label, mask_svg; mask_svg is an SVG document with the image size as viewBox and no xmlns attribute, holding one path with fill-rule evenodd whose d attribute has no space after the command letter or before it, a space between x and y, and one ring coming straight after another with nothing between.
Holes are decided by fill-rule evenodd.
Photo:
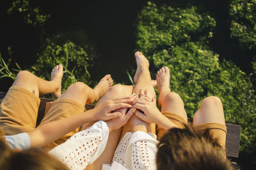
<instances>
[{"instance_id":1,"label":"small dim green foliage patch in the top left corner","mask_svg":"<svg viewBox=\"0 0 256 170\"><path fill-rule=\"evenodd\" d=\"M8 14L18 11L24 15L24 21L28 25L40 27L50 18L50 14L43 14L38 7L33 7L28 0L13 0L12 6L8 8Z\"/></svg>"}]
</instances>

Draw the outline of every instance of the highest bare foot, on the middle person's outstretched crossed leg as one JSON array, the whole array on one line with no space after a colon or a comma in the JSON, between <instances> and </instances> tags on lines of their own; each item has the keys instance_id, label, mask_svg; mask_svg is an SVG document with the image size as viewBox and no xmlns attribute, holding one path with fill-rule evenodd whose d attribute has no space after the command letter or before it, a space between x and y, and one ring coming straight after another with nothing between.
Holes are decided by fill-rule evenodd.
<instances>
[{"instance_id":1,"label":"highest bare foot, on the middle person's outstretched crossed leg","mask_svg":"<svg viewBox=\"0 0 256 170\"><path fill-rule=\"evenodd\" d=\"M140 75L141 71L143 71L144 69L148 70L149 63L148 63L148 59L146 59L146 57L141 52L135 53L135 59L136 59L136 63L137 63L137 69L136 69L136 73L133 77L133 81L134 81L134 83L137 83L138 76Z\"/></svg>"}]
</instances>

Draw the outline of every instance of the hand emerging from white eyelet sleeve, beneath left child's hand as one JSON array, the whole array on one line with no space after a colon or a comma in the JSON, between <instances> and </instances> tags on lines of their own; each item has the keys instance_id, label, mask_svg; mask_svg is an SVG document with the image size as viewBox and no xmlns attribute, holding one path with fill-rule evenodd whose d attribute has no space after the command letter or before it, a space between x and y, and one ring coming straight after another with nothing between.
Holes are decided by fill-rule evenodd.
<instances>
[{"instance_id":1,"label":"hand emerging from white eyelet sleeve, beneath left child's hand","mask_svg":"<svg viewBox=\"0 0 256 170\"><path fill-rule=\"evenodd\" d=\"M106 121L106 124L108 125L109 132L115 131L116 129L119 129L123 125L127 123L129 118L132 117L134 112L136 111L135 108L130 109L126 114L122 113L122 115L118 118L113 118L111 120Z\"/></svg>"}]
</instances>

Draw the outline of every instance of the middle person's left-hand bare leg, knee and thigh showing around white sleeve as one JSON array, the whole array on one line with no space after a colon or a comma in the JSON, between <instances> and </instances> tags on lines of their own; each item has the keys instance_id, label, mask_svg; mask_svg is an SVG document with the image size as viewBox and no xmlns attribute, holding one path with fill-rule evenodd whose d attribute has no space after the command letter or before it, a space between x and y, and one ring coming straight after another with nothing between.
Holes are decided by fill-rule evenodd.
<instances>
[{"instance_id":1,"label":"middle person's left-hand bare leg, knee and thigh showing around white sleeve","mask_svg":"<svg viewBox=\"0 0 256 170\"><path fill-rule=\"evenodd\" d=\"M108 101L109 99L114 99L116 97L129 96L131 94L132 94L132 86L114 85L99 100L99 102L96 104L95 107L99 106L99 104L102 104L105 101ZM126 110L121 109L120 111L121 113L125 114ZM83 129L89 127L92 124L93 122L90 124L84 125ZM106 145L104 152L102 153L102 155L100 155L100 157L97 160L95 160L95 162L93 162L93 164L88 165L86 169L101 169L102 164L111 164L114 152L116 150L116 146L118 145L121 131L122 131L122 128L109 133L108 143Z\"/></svg>"}]
</instances>

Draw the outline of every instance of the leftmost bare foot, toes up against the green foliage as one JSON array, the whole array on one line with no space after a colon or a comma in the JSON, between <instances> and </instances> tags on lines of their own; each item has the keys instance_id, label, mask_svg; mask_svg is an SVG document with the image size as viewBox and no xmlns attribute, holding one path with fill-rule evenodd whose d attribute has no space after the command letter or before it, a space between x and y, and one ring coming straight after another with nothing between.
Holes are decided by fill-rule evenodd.
<instances>
[{"instance_id":1,"label":"leftmost bare foot, toes up against the green foliage","mask_svg":"<svg viewBox=\"0 0 256 170\"><path fill-rule=\"evenodd\" d=\"M56 91L52 92L52 97L58 99L61 96L61 79L63 77L63 66L61 64L55 66L51 72L51 81L56 83Z\"/></svg>"}]
</instances>

